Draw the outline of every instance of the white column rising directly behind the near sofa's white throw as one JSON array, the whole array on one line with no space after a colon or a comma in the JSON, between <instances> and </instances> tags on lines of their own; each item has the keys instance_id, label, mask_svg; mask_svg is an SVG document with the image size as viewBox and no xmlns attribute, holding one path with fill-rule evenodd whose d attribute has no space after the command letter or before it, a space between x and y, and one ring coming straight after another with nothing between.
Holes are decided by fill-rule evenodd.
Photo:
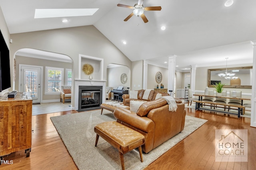
<instances>
[{"instance_id":1,"label":"white column rising directly behind the near sofa's white throw","mask_svg":"<svg viewBox=\"0 0 256 170\"><path fill-rule=\"evenodd\" d=\"M169 90L172 90L171 96L174 96L174 86L175 86L175 68L176 68L176 55L170 55L169 56L169 62L168 62L168 93Z\"/></svg>"}]
</instances>

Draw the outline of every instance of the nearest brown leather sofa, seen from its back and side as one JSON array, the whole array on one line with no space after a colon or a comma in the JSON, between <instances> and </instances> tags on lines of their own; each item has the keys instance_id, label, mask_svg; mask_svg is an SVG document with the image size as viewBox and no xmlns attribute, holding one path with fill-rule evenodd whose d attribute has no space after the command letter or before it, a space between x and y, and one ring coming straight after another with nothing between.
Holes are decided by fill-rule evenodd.
<instances>
[{"instance_id":1,"label":"nearest brown leather sofa, seen from its back and side","mask_svg":"<svg viewBox=\"0 0 256 170\"><path fill-rule=\"evenodd\" d=\"M176 100L177 110L169 111L163 98L144 102L137 113L118 107L114 111L117 122L140 132L145 137L145 153L158 147L184 129L186 110L181 100Z\"/></svg>"}]
</instances>

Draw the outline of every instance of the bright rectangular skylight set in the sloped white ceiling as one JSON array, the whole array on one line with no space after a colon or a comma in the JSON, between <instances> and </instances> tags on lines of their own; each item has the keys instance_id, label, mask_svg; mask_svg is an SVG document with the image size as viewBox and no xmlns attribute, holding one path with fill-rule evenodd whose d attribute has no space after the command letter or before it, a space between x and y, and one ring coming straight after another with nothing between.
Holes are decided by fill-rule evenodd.
<instances>
[{"instance_id":1,"label":"bright rectangular skylight set in the sloped white ceiling","mask_svg":"<svg viewBox=\"0 0 256 170\"><path fill-rule=\"evenodd\" d=\"M92 16L98 9L36 9L34 18Z\"/></svg>"}]
</instances>

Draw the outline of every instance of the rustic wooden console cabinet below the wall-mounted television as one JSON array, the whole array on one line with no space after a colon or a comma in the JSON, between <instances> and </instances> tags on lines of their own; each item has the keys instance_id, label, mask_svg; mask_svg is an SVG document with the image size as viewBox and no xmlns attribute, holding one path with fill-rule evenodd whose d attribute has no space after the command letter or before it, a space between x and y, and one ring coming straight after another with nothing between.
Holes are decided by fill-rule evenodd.
<instances>
[{"instance_id":1,"label":"rustic wooden console cabinet below the wall-mounted television","mask_svg":"<svg viewBox=\"0 0 256 170\"><path fill-rule=\"evenodd\" d=\"M0 97L0 156L25 150L30 155L32 143L32 98L18 93L15 98Z\"/></svg>"}]
</instances>

